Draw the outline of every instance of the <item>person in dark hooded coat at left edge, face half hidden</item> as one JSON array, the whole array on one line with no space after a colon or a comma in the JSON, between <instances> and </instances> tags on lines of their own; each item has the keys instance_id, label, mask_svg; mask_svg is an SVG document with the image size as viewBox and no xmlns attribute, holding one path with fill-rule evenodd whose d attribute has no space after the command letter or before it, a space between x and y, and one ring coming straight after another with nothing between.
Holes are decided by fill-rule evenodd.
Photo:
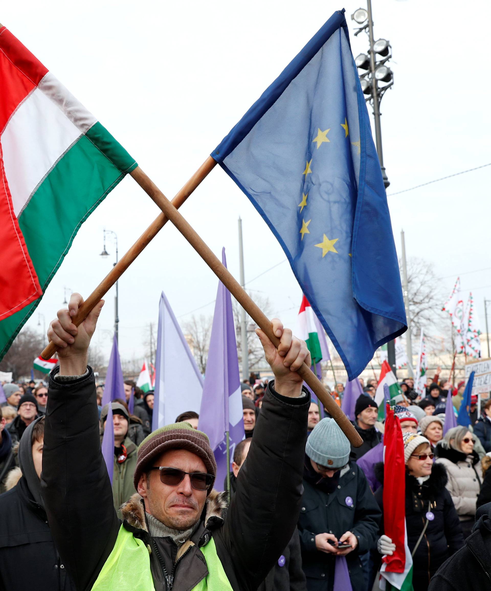
<instances>
[{"instance_id":1,"label":"person in dark hooded coat at left edge, face half hidden","mask_svg":"<svg viewBox=\"0 0 491 591\"><path fill-rule=\"evenodd\" d=\"M9 475L17 485L0 495L0 589L75 591L51 537L41 496L43 445L44 416L22 434L19 467Z\"/></svg>"}]
</instances>

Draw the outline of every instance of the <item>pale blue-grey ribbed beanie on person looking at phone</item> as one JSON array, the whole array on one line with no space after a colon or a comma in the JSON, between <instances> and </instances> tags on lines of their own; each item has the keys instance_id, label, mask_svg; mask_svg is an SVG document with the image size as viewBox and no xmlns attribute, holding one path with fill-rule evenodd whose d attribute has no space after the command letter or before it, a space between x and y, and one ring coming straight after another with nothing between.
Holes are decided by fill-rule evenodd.
<instances>
[{"instance_id":1,"label":"pale blue-grey ribbed beanie on person looking at phone","mask_svg":"<svg viewBox=\"0 0 491 591\"><path fill-rule=\"evenodd\" d=\"M311 460L333 470L346 466L350 442L333 418L323 418L308 436L305 453Z\"/></svg>"}]
</instances>

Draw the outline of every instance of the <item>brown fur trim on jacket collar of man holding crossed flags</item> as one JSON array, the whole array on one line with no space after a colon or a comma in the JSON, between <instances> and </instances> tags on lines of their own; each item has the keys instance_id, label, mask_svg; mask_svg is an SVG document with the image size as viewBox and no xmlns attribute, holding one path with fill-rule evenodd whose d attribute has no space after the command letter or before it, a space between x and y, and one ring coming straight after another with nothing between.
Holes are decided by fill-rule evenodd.
<instances>
[{"instance_id":1,"label":"brown fur trim on jacket collar of man holding crossed flags","mask_svg":"<svg viewBox=\"0 0 491 591\"><path fill-rule=\"evenodd\" d=\"M123 519L126 519L129 525L148 532L145 509L142 501L142 497L135 492L129 501L121 505L120 510ZM213 489L207 496L203 513L201 514L201 520L204 521L204 527L208 530L216 530L217 528L222 527L228 506L228 494Z\"/></svg>"}]
</instances>

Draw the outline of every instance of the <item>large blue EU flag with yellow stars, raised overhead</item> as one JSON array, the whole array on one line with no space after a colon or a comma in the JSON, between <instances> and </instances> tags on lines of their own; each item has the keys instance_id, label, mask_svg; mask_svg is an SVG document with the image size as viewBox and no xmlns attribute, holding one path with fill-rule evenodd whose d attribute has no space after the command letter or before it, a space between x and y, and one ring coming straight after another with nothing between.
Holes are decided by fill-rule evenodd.
<instances>
[{"instance_id":1,"label":"large blue EU flag with yellow stars, raised overhead","mask_svg":"<svg viewBox=\"0 0 491 591\"><path fill-rule=\"evenodd\" d=\"M354 379L407 325L344 10L288 64L212 157L277 237Z\"/></svg>"}]
</instances>

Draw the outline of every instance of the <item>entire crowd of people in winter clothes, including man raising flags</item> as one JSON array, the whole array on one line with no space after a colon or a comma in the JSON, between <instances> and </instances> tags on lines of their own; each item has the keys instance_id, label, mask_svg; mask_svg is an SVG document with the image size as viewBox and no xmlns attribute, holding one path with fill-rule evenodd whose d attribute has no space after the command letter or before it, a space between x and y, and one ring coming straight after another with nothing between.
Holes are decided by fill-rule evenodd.
<instances>
[{"instance_id":1,"label":"entire crowd of people in winter clothes, including man raising flags","mask_svg":"<svg viewBox=\"0 0 491 591\"><path fill-rule=\"evenodd\" d=\"M51 328L50 338L70 322ZM384 523L376 381L360 381L353 427L362 445L354 447L291 371L308 359L304 343L279 323L278 330L281 356L260 336L274 379L242 382L245 439L233 450L229 478L214 488L216 463L196 409L152 431L154 392L132 380L110 402L110 485L100 452L104 385L80 356L63 355L70 345L48 382L4 384L0 589L340 591L343 564L353 591L378 589L382 557L396 547ZM439 374L422 395L405 379L394 400L412 586L480 589L461 583L459 565L489 584L491 399L478 416L473 398L469 425L444 434L447 397L457 413L464 384ZM336 401L343 390L335 384ZM227 493L215 490L226 490L227 480L228 509ZM120 580L126 586L112 587Z\"/></svg>"}]
</instances>

